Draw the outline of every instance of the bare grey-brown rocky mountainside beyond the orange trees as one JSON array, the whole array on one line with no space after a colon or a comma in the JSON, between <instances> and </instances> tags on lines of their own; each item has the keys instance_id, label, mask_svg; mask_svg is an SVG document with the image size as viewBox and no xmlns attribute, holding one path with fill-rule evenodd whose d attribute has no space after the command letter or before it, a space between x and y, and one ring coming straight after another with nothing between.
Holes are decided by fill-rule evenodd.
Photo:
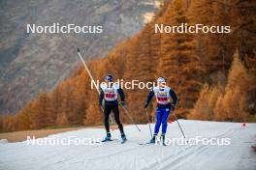
<instances>
[{"instance_id":1,"label":"bare grey-brown rocky mountainside beyond the orange trees","mask_svg":"<svg viewBox=\"0 0 256 170\"><path fill-rule=\"evenodd\" d=\"M0 113L15 113L52 89L78 65L104 56L138 32L155 11L152 0L2 0L0 2ZM150 18L149 18L150 19ZM26 24L103 25L103 34L27 34Z\"/></svg>"}]
</instances>

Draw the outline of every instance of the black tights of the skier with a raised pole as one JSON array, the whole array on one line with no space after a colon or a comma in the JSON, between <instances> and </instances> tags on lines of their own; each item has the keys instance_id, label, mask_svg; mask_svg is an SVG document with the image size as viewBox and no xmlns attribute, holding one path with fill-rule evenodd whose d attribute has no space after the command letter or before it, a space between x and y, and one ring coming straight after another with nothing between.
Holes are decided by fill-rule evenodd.
<instances>
[{"instance_id":1,"label":"black tights of the skier with a raised pole","mask_svg":"<svg viewBox=\"0 0 256 170\"><path fill-rule=\"evenodd\" d=\"M114 117L114 121L117 124L121 134L123 134L123 126L120 122L120 118L119 118L119 109L118 109L118 105L105 105L105 109L104 109L104 124L105 124L105 128L107 132L110 132L110 123L109 123L109 119L110 119L110 114L113 113L113 117Z\"/></svg>"}]
</instances>

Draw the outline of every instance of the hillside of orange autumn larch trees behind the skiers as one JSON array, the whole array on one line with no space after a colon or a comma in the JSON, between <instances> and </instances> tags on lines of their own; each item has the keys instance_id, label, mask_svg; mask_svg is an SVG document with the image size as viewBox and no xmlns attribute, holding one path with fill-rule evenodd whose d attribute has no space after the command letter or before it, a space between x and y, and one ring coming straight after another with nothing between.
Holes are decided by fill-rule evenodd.
<instances>
[{"instance_id":1,"label":"hillside of orange autumn larch trees behind the skiers","mask_svg":"<svg viewBox=\"0 0 256 170\"><path fill-rule=\"evenodd\" d=\"M247 121L256 112L255 19L256 3L252 0L167 1L138 35L115 46L107 57L90 62L89 68L95 79L101 81L107 73L125 81L147 82L155 81L158 76L166 77L179 98L176 108L179 118ZM232 32L155 34L155 23L230 25ZM124 89L124 92L131 116L137 123L145 123L143 103L148 90ZM213 103L207 102L206 95L212 93ZM203 102L206 103L200 105ZM234 107L237 103L240 106ZM149 106L152 117L154 107L155 104ZM130 123L123 112L121 117ZM42 93L16 116L2 118L0 128L101 123L98 94L90 89L90 79L80 66L51 93Z\"/></svg>"}]
</instances>

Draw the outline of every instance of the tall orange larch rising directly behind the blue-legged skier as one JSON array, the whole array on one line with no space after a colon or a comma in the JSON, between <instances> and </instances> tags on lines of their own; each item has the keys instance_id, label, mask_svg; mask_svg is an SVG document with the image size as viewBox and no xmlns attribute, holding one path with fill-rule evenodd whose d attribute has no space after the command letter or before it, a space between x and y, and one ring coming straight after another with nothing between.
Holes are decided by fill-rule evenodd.
<instances>
[{"instance_id":1,"label":"tall orange larch rising directly behind the blue-legged skier","mask_svg":"<svg viewBox=\"0 0 256 170\"><path fill-rule=\"evenodd\" d=\"M180 1L173 1L165 16L166 23L188 23ZM203 83L204 69L196 51L196 41L188 33L164 34L161 46L160 72L177 92L179 113L185 116L193 108Z\"/></svg>"}]
</instances>

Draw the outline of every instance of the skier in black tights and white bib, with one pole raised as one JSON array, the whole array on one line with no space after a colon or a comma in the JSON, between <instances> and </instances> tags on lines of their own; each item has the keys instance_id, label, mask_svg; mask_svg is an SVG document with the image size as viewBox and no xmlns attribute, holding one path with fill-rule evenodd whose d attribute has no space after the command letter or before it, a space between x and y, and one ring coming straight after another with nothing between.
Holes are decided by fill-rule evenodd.
<instances>
[{"instance_id":1,"label":"skier in black tights and white bib, with one pole raised","mask_svg":"<svg viewBox=\"0 0 256 170\"><path fill-rule=\"evenodd\" d=\"M122 138L122 143L126 140L126 136L123 131L123 126L120 122L119 118L119 109L118 109L118 100L117 96L120 96L121 104L124 105L124 92L123 90L116 84L112 83L112 75L105 76L105 83L101 84L101 94L99 98L99 104L102 106L104 105L104 124L107 131L107 136L103 140L111 141L111 131L110 131L110 114L113 112L114 121L117 124Z\"/></svg>"}]
</instances>

